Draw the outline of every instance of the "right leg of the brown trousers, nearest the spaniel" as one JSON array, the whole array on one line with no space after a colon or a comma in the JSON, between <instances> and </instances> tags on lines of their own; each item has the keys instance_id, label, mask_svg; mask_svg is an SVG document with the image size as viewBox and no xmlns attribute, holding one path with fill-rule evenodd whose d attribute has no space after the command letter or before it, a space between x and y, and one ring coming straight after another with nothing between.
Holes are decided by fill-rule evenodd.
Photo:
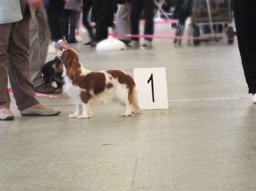
<instances>
[{"instance_id":1,"label":"right leg of the brown trousers, nearest the spaniel","mask_svg":"<svg viewBox=\"0 0 256 191\"><path fill-rule=\"evenodd\" d=\"M18 110L38 104L29 67L29 24L31 16L12 23L7 53L10 56L8 74Z\"/></svg>"}]
</instances>

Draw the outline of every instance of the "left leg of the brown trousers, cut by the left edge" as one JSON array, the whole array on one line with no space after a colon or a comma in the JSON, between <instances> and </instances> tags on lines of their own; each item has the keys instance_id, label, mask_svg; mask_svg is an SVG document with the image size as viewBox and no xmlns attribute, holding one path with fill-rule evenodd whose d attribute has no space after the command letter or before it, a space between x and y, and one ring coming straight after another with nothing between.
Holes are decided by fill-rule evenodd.
<instances>
[{"instance_id":1,"label":"left leg of the brown trousers, cut by the left edge","mask_svg":"<svg viewBox=\"0 0 256 191\"><path fill-rule=\"evenodd\" d=\"M9 37L12 25L0 24L0 114L10 112L10 94L8 92L8 61L9 55L7 53Z\"/></svg>"}]
</instances>

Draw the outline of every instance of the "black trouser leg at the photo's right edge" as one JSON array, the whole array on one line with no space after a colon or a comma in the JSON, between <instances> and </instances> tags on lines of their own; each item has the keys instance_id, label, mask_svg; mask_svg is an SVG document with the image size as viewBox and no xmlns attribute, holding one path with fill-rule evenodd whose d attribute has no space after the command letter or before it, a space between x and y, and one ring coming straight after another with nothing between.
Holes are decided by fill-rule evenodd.
<instances>
[{"instance_id":1,"label":"black trouser leg at the photo's right edge","mask_svg":"<svg viewBox=\"0 0 256 191\"><path fill-rule=\"evenodd\" d=\"M249 93L256 93L256 2L233 0L238 47Z\"/></svg>"}]
</instances>

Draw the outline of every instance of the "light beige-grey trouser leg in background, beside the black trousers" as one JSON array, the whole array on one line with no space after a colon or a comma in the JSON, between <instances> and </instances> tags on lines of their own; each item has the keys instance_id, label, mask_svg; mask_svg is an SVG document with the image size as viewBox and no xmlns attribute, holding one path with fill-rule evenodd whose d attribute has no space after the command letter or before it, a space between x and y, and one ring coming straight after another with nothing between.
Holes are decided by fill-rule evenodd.
<instances>
[{"instance_id":1,"label":"light beige-grey trouser leg in background, beside the black trousers","mask_svg":"<svg viewBox=\"0 0 256 191\"><path fill-rule=\"evenodd\" d=\"M128 35L131 34L131 3L118 4L117 10L117 34ZM121 40L131 40L130 37L120 37Z\"/></svg>"}]
</instances>

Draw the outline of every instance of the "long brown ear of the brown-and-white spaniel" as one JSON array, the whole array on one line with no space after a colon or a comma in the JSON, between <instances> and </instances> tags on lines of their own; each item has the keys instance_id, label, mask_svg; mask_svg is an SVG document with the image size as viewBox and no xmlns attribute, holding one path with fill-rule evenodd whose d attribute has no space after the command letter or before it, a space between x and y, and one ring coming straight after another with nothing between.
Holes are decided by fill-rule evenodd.
<instances>
[{"instance_id":1,"label":"long brown ear of the brown-and-white spaniel","mask_svg":"<svg viewBox=\"0 0 256 191\"><path fill-rule=\"evenodd\" d=\"M66 74L71 80L74 80L80 76L80 65L75 57L71 57L70 59L68 59L67 66L68 69L66 70Z\"/></svg>"}]
</instances>

